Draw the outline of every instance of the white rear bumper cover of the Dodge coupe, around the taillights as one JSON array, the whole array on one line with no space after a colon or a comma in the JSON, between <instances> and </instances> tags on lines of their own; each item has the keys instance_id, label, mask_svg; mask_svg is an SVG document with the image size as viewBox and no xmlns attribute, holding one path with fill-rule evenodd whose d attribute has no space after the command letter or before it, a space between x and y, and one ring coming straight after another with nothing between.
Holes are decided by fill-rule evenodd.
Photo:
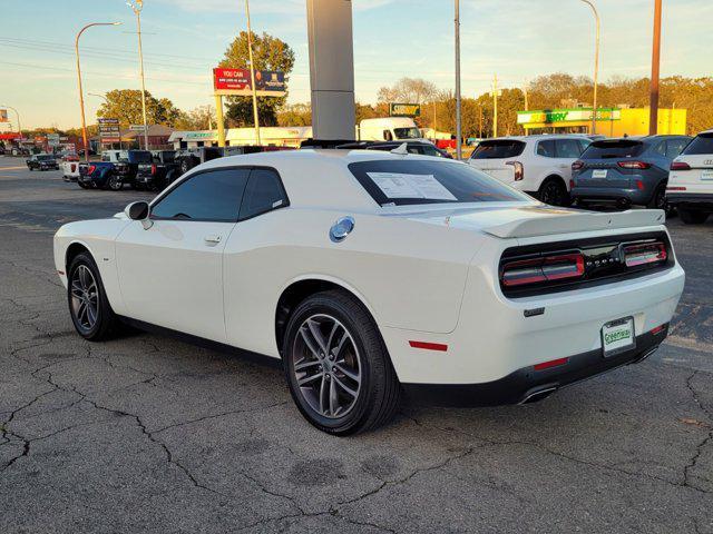
<instances>
[{"instance_id":1,"label":"white rear bumper cover of the Dodge coupe, around the taillights","mask_svg":"<svg viewBox=\"0 0 713 534\"><path fill-rule=\"evenodd\" d=\"M634 317L637 336L668 323L685 280L678 264L639 278L524 298L505 297L496 278L502 251L512 246L657 230L665 227L487 241L470 267L457 328L424 339L447 350L412 348L412 332L382 330L392 359L408 362L398 368L399 378L414 384L486 383L538 363L600 349L602 327L611 320ZM525 310L538 308L541 314L525 316Z\"/></svg>"}]
</instances>

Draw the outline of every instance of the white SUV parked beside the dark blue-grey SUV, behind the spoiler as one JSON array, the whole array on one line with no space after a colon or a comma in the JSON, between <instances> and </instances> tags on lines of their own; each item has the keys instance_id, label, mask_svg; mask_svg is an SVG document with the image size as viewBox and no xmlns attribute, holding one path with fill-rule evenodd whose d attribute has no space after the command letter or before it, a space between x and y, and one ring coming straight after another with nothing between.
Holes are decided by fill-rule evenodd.
<instances>
[{"instance_id":1,"label":"white SUV parked beside the dark blue-grey SUV, behind the spoiler","mask_svg":"<svg viewBox=\"0 0 713 534\"><path fill-rule=\"evenodd\" d=\"M583 136L520 136L486 139L468 164L545 204L567 206L572 164L592 142Z\"/></svg>"}]
</instances>

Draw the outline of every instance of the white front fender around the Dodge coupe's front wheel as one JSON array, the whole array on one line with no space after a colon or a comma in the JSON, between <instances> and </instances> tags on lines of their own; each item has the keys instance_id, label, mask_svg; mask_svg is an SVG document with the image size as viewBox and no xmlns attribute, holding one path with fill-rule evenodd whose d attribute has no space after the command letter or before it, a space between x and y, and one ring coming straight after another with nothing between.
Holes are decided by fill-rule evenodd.
<instances>
[{"instance_id":1,"label":"white front fender around the Dodge coupe's front wheel","mask_svg":"<svg viewBox=\"0 0 713 534\"><path fill-rule=\"evenodd\" d=\"M60 275L65 287L68 284L67 251L74 244L81 245L89 250L97 264L107 298L117 314L126 314L126 307L119 289L115 240L129 222L126 218L69 222L57 230L53 240L55 266L58 273L65 273Z\"/></svg>"}]
</instances>

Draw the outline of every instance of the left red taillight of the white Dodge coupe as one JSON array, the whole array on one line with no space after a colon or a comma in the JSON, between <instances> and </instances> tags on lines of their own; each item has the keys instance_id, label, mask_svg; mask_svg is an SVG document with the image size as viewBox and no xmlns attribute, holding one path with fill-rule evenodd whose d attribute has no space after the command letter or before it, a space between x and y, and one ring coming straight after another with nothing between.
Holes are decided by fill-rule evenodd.
<instances>
[{"instance_id":1,"label":"left red taillight of the white Dodge coupe","mask_svg":"<svg viewBox=\"0 0 713 534\"><path fill-rule=\"evenodd\" d=\"M500 279L506 287L580 278L584 275L582 253L518 259L502 266Z\"/></svg>"}]
</instances>

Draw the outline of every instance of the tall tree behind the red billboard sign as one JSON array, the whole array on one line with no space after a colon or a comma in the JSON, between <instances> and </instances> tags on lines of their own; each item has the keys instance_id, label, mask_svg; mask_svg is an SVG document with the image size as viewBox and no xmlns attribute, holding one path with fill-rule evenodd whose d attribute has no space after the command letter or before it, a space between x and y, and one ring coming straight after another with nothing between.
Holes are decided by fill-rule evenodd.
<instances>
[{"instance_id":1,"label":"tall tree behind the red billboard sign","mask_svg":"<svg viewBox=\"0 0 713 534\"><path fill-rule=\"evenodd\" d=\"M294 67L294 51L290 46L267 33L257 36L252 33L253 59L255 70L279 70L285 73L285 82ZM250 68L247 49L247 32L241 33L233 40L225 51L219 67L233 69ZM286 97L257 97L257 112L262 126L277 125L277 110L284 106ZM252 97L227 97L227 112L229 126L253 126Z\"/></svg>"}]
</instances>

